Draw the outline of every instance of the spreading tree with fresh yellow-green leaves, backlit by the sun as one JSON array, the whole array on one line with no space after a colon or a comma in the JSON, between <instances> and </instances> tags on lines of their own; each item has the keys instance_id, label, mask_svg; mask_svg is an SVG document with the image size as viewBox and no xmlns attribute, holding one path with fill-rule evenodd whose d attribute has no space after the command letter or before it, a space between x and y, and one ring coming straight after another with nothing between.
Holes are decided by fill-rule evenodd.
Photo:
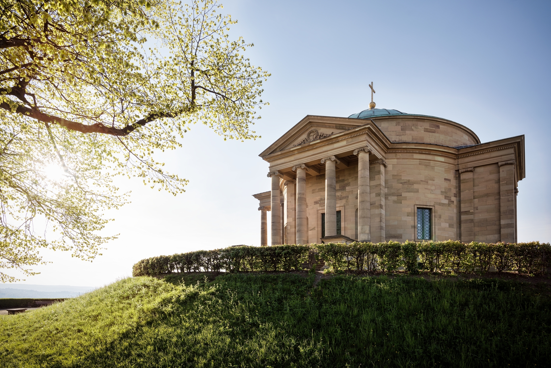
<instances>
[{"instance_id":1,"label":"spreading tree with fresh yellow-green leaves, backlit by the sun","mask_svg":"<svg viewBox=\"0 0 551 368\"><path fill-rule=\"evenodd\" d=\"M183 192L154 151L193 124L258 138L269 74L220 4L190 1L0 0L0 269L33 274L43 247L100 255L102 211L128 198L114 177Z\"/></svg>"}]
</instances>

